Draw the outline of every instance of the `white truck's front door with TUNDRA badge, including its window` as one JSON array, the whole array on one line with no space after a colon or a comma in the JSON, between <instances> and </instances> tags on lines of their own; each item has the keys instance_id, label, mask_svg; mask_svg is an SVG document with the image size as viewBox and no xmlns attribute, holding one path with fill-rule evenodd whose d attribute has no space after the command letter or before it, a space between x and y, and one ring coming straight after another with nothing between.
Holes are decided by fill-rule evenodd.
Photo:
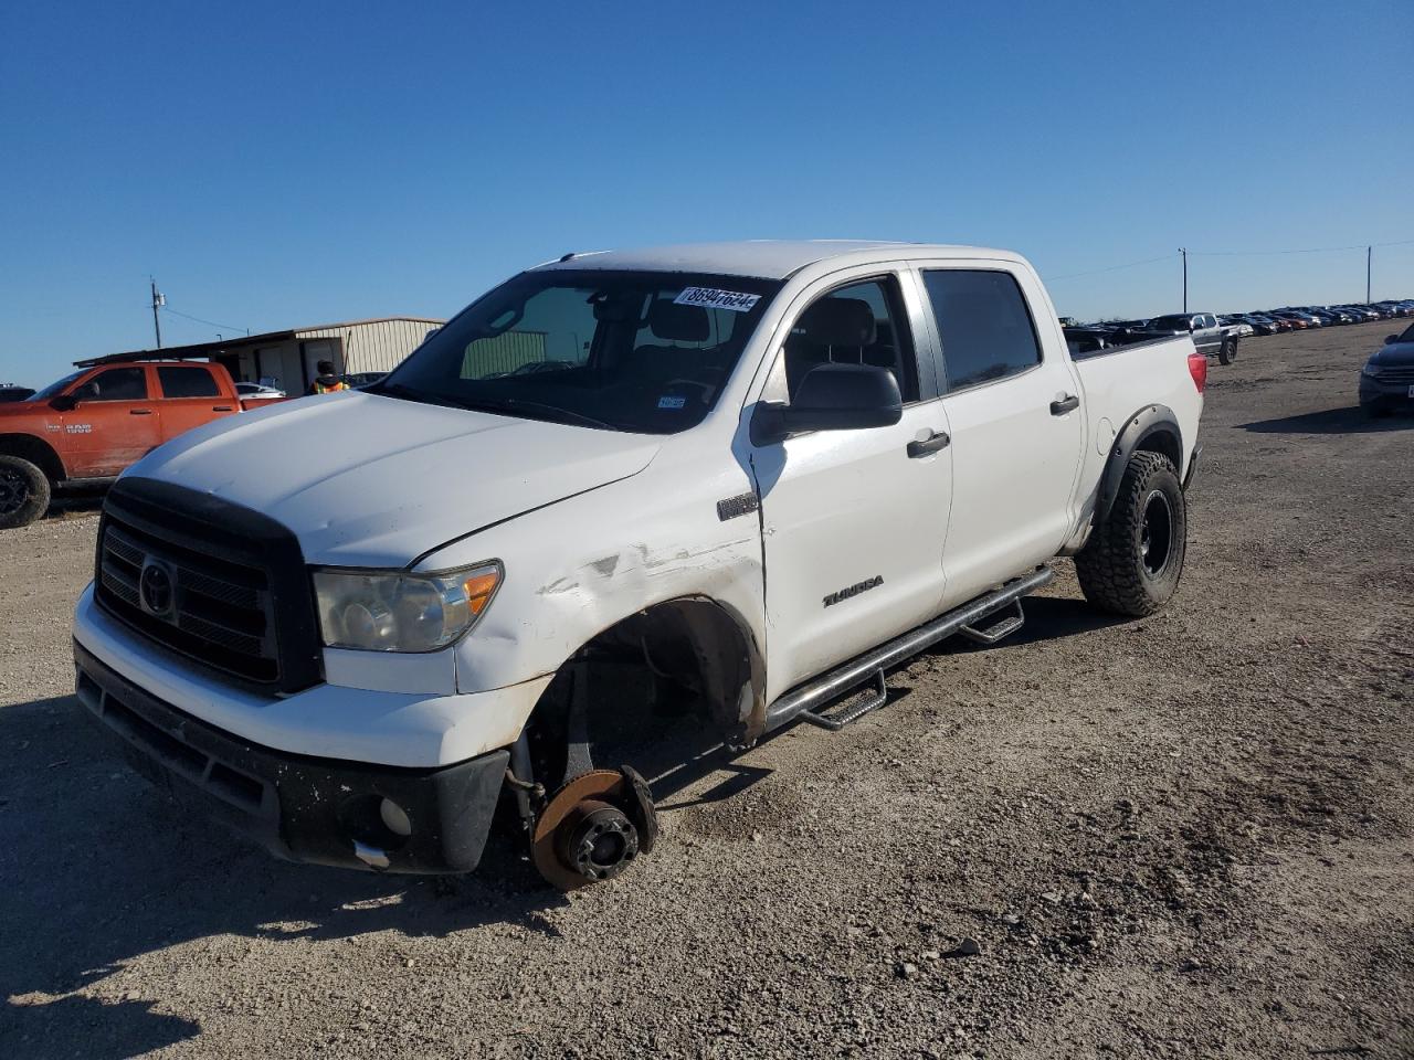
<instances>
[{"instance_id":1,"label":"white truck's front door with TUNDRA badge, including its window","mask_svg":"<svg viewBox=\"0 0 1414 1060\"><path fill-rule=\"evenodd\" d=\"M930 365L921 380L911 326L919 312L913 288L878 267L822 290L795 317L762 394L788 401L812 367L846 362L891 369L904 396L892 427L813 431L751 449L768 698L937 612L952 454L932 445L909 455L909 442L949 430Z\"/></svg>"}]
</instances>

